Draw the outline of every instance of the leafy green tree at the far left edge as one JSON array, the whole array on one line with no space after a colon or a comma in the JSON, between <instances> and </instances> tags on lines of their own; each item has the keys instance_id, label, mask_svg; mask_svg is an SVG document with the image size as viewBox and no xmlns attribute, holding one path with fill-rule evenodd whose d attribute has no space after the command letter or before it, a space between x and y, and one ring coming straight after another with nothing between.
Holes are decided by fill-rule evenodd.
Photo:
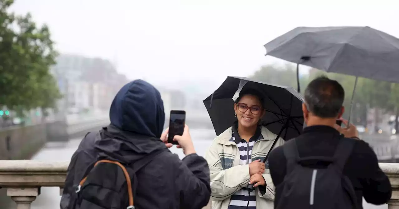
<instances>
[{"instance_id":1,"label":"leafy green tree at the far left edge","mask_svg":"<svg viewBox=\"0 0 399 209\"><path fill-rule=\"evenodd\" d=\"M0 107L55 107L61 95L49 72L57 56L49 29L38 27L30 14L9 12L13 3L0 0Z\"/></svg>"}]
</instances>

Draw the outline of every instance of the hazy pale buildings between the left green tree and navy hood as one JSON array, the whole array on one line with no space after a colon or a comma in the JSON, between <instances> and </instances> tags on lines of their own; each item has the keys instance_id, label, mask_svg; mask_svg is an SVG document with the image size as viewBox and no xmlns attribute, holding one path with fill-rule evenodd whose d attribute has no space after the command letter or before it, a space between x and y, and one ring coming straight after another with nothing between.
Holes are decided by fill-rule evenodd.
<instances>
[{"instance_id":1,"label":"hazy pale buildings between the left green tree and navy hood","mask_svg":"<svg viewBox=\"0 0 399 209\"><path fill-rule=\"evenodd\" d=\"M58 109L63 114L109 111L117 91L127 83L108 60L79 55L60 55L51 68L63 98Z\"/></svg>"}]
</instances>

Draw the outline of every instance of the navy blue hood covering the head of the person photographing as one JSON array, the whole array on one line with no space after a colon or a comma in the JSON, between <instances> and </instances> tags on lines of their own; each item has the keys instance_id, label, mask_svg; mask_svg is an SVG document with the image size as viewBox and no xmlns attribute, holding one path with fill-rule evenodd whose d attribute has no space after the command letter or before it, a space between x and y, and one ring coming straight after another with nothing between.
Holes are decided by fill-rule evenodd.
<instances>
[{"instance_id":1,"label":"navy blue hood covering the head of the person photographing","mask_svg":"<svg viewBox=\"0 0 399 209\"><path fill-rule=\"evenodd\" d=\"M109 118L122 131L159 139L165 123L161 94L144 80L129 82L115 96Z\"/></svg>"}]
</instances>

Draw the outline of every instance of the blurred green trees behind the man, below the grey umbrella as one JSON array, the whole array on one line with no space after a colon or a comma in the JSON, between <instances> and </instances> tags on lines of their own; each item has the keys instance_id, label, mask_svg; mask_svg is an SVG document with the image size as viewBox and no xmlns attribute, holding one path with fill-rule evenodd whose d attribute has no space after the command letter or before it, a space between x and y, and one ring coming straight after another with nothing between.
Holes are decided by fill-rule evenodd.
<instances>
[{"instance_id":1,"label":"blurred green trees behind the man, below the grey umbrella","mask_svg":"<svg viewBox=\"0 0 399 209\"><path fill-rule=\"evenodd\" d=\"M350 112L355 77L344 74L326 73L321 70L312 69L307 77L300 78L301 93L303 93L308 82L321 75L337 80L344 88L344 106L347 108L344 117L347 118L348 113ZM260 70L251 76L251 78L263 82L291 86L294 89L297 88L296 68L291 64L287 64L285 67L275 67L271 65L262 66ZM362 124L366 122L367 108L377 107L379 109L384 109L387 113L395 114L399 117L399 84L359 77L353 104L354 109L352 116L356 115L356 118L361 119L360 122ZM396 123L395 126L396 130L399 130L399 124ZM397 131L397 133L399 133L399 131Z\"/></svg>"}]
</instances>

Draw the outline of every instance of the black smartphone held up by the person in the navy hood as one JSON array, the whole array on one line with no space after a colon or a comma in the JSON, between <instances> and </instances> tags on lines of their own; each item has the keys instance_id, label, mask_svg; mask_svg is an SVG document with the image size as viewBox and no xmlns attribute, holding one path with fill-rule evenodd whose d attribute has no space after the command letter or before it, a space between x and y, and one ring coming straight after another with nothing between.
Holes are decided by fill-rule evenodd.
<instances>
[{"instance_id":1,"label":"black smartphone held up by the person in the navy hood","mask_svg":"<svg viewBox=\"0 0 399 209\"><path fill-rule=\"evenodd\" d=\"M186 111L184 110L171 110L169 117L169 133L168 143L178 145L177 141L173 141L175 135L183 135L184 126L186 124Z\"/></svg>"}]
</instances>

